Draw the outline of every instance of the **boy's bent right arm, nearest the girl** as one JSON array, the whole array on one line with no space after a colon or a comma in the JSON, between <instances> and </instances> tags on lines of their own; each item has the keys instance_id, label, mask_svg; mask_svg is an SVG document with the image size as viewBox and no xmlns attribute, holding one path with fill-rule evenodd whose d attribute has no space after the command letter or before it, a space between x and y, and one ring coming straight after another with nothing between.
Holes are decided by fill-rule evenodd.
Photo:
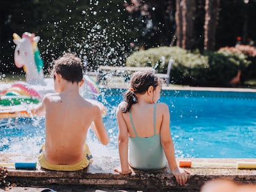
<instances>
[{"instance_id":1,"label":"boy's bent right arm, nearest the girl","mask_svg":"<svg viewBox=\"0 0 256 192\"><path fill-rule=\"evenodd\" d=\"M91 124L91 128L92 128L93 132L95 133L95 135L100 140L100 142L102 144L106 145L109 143L109 137L108 137L106 128L103 124L100 108L98 106L95 106L94 111L95 111L95 119L93 120L93 122Z\"/></svg>"}]
</instances>

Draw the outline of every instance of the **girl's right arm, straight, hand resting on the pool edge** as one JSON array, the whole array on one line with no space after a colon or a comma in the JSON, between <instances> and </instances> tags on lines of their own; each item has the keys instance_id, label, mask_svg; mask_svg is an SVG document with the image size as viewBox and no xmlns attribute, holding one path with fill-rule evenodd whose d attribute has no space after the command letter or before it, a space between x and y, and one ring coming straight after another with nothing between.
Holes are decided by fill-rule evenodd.
<instances>
[{"instance_id":1,"label":"girl's right arm, straight, hand resting on the pool edge","mask_svg":"<svg viewBox=\"0 0 256 192\"><path fill-rule=\"evenodd\" d=\"M169 168L171 169L173 175L175 176L177 182L180 185L185 185L187 182L187 173L190 174L190 172L186 169L181 169L177 166L175 153L174 153L174 146L173 146L173 140L171 138L171 133L169 130L169 107L166 104L159 104L161 111L163 112L162 117L162 123L161 123L161 144L164 149L164 154L166 156L166 159L169 164Z\"/></svg>"}]
</instances>

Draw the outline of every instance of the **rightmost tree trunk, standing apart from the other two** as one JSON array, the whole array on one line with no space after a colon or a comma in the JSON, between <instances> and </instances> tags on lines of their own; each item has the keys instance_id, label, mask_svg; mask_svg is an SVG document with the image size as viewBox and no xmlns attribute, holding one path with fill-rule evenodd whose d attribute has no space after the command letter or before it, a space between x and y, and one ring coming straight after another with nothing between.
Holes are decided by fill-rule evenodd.
<instances>
[{"instance_id":1,"label":"rightmost tree trunk, standing apart from the other two","mask_svg":"<svg viewBox=\"0 0 256 192\"><path fill-rule=\"evenodd\" d=\"M205 1L205 50L215 49L215 34L218 25L220 0Z\"/></svg>"}]
</instances>

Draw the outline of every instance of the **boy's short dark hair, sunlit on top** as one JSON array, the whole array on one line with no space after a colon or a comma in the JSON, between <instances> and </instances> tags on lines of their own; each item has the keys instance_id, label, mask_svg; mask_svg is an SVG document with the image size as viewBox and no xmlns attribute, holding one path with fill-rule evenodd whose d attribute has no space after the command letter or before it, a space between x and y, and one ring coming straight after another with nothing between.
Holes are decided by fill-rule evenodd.
<instances>
[{"instance_id":1,"label":"boy's short dark hair, sunlit on top","mask_svg":"<svg viewBox=\"0 0 256 192\"><path fill-rule=\"evenodd\" d=\"M60 74L67 81L79 83L83 79L82 61L75 54L64 54L54 61L54 72Z\"/></svg>"}]
</instances>

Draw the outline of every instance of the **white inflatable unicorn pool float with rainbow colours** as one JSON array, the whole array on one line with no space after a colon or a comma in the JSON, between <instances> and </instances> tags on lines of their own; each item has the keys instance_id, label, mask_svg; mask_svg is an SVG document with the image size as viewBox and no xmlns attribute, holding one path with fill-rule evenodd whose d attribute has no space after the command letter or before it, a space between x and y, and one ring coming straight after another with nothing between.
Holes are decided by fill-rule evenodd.
<instances>
[{"instance_id":1,"label":"white inflatable unicorn pool float with rainbow colours","mask_svg":"<svg viewBox=\"0 0 256 192\"><path fill-rule=\"evenodd\" d=\"M0 119L13 117L32 117L29 109L41 102L46 93L54 93L52 78L44 78L43 60L40 57L38 41L40 36L35 33L25 32L20 38L14 33L14 63L16 67L23 67L25 81L17 81L7 84L4 89L0 88ZM86 95L85 99L98 105L101 114L105 115L105 106L96 100L100 90L92 78L84 75L85 83L80 88L81 94Z\"/></svg>"}]
</instances>

